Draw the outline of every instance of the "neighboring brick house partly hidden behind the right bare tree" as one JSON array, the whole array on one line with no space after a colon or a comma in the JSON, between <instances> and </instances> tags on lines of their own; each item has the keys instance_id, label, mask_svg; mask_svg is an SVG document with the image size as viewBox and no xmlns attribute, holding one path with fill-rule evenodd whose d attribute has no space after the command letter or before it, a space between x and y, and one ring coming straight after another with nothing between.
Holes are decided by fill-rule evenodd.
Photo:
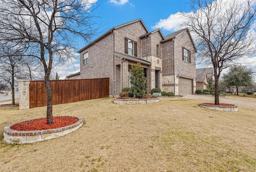
<instances>
[{"instance_id":1,"label":"neighboring brick house partly hidden behind the right bare tree","mask_svg":"<svg viewBox=\"0 0 256 172\"><path fill-rule=\"evenodd\" d=\"M204 90L208 86L208 79L213 78L213 68L196 69L196 90Z\"/></svg>"}]
</instances>

